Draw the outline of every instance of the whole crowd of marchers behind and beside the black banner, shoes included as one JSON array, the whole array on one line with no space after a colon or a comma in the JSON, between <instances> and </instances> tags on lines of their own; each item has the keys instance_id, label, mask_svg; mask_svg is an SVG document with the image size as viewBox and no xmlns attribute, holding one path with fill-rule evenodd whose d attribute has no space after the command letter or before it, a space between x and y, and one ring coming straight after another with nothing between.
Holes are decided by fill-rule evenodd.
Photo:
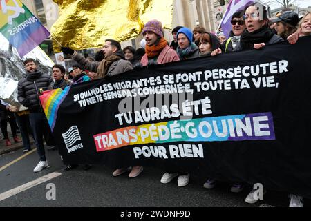
<instances>
[{"instance_id":1,"label":"whole crowd of marchers behind and beside the black banner, shoes included","mask_svg":"<svg viewBox=\"0 0 311 221\"><path fill-rule=\"evenodd\" d=\"M259 8L261 10L258 10ZM156 66L157 64L205 56L215 57L216 59L220 53L258 50L267 44L275 44L281 41L295 44L296 41L299 41L299 37L311 35L310 12L299 20L296 12L284 10L277 17L269 20L265 6L259 3L249 4L244 10L235 12L232 15L231 23L232 30L228 39L221 30L214 34L207 32L202 26L196 26L192 31L190 28L177 26L171 32L173 41L169 44L164 39L162 23L151 20L144 25L142 30L144 39L140 42L141 48L138 49L132 46L126 46L122 49L118 41L106 39L102 51L97 52L95 59L86 59L75 50L63 47L64 54L70 55L76 64L68 69L67 74L63 66L53 66L52 77L41 73L34 59L26 59L24 64L27 73L19 81L18 100L30 112L29 119L32 135L35 139L35 146L40 160L34 171L41 171L49 166L43 145L44 134L48 134L53 140L48 122L39 103L38 95L42 90L64 89L70 84L80 84L85 81L113 77L144 66ZM8 115L10 107L1 104L0 110L1 129L3 128L2 131L6 131L2 126L4 125L2 122L10 122L8 120L10 119L10 115ZM15 126L11 125L11 127L15 142L20 142L15 133ZM25 126L20 126L20 128L25 128ZM7 134L3 133L3 135L8 140ZM23 136L23 144L28 151L30 144L25 137L26 135ZM91 167L91 165L88 166ZM66 164L64 171L75 167L77 165ZM115 169L112 174L117 176L127 171L131 171L129 177L133 178L140 175L143 168L140 165L133 165L129 168ZM186 186L189 183L190 174L188 171L165 171L160 182L167 184L174 177L178 177L178 186ZM216 183L217 181L213 177L207 177L207 182L203 186L206 189L212 189L216 186ZM232 184L231 191L240 193L244 187L244 184ZM253 204L258 201L254 198L255 191L256 189L252 189L249 192L245 202ZM290 206L303 206L303 198L291 194Z\"/></svg>"}]
</instances>

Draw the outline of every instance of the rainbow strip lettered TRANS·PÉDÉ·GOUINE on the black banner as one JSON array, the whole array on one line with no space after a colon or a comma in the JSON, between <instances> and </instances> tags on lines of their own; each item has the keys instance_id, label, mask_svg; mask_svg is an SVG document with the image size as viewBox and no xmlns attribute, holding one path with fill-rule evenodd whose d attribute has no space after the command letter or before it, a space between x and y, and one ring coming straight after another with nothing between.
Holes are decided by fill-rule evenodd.
<instances>
[{"instance_id":1,"label":"rainbow strip lettered TRANS\u00b7P\u00c9D\u00c9\u00b7GOUINE on the black banner","mask_svg":"<svg viewBox=\"0 0 311 221\"><path fill-rule=\"evenodd\" d=\"M140 144L275 140L272 113L250 113L127 126L93 135L97 152Z\"/></svg>"}]
</instances>

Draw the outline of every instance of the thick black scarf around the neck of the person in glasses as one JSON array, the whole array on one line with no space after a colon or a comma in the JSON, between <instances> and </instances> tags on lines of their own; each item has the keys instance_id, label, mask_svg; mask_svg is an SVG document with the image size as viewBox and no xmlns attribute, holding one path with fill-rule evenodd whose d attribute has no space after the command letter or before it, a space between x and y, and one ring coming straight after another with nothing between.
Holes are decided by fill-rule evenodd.
<instances>
[{"instance_id":1,"label":"thick black scarf around the neck of the person in glasses","mask_svg":"<svg viewBox=\"0 0 311 221\"><path fill-rule=\"evenodd\" d=\"M254 32L243 32L241 35L242 50L254 49L254 44L267 43L273 37L274 32L267 27L259 28Z\"/></svg>"}]
</instances>

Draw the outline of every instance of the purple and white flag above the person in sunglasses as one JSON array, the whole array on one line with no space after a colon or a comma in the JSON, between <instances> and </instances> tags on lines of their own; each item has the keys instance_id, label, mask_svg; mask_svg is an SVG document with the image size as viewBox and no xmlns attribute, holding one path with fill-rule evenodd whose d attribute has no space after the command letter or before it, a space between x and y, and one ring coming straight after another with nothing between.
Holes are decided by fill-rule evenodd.
<instances>
[{"instance_id":1,"label":"purple and white flag above the person in sunglasses","mask_svg":"<svg viewBox=\"0 0 311 221\"><path fill-rule=\"evenodd\" d=\"M220 25L218 26L216 30L216 33L221 27L221 30L224 32L225 36L228 38L229 33L232 30L232 26L231 26L232 15L238 10L244 9L244 7L249 3L254 3L254 0L231 0L225 12L225 16L223 17L222 21L220 22Z\"/></svg>"}]
</instances>

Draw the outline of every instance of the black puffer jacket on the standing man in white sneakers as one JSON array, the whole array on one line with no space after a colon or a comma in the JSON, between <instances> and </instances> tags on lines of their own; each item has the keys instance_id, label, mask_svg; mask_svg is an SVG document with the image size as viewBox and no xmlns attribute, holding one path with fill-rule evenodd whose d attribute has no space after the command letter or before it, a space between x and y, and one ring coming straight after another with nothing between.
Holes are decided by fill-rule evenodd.
<instances>
[{"instance_id":1,"label":"black puffer jacket on the standing man in white sneakers","mask_svg":"<svg viewBox=\"0 0 311 221\"><path fill-rule=\"evenodd\" d=\"M40 112L41 104L38 93L48 90L48 86L52 82L53 79L48 74L41 73L38 70L34 73L27 72L18 83L17 99L19 103L28 107L30 112Z\"/></svg>"}]
</instances>

